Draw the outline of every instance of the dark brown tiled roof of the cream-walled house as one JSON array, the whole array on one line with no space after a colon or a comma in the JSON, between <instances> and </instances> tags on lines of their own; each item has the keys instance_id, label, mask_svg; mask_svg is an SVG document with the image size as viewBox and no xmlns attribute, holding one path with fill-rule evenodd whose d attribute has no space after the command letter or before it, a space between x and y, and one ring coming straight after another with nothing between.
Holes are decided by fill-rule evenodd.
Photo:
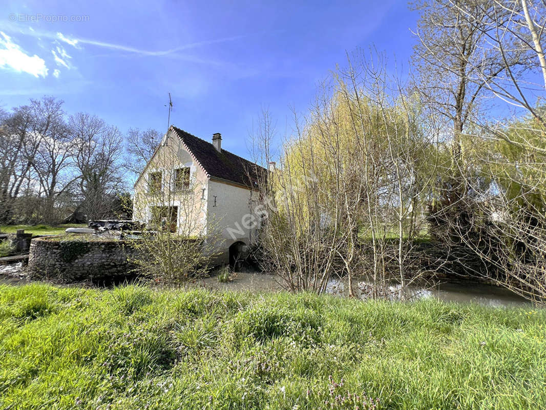
<instances>
[{"instance_id":1,"label":"dark brown tiled roof of the cream-walled house","mask_svg":"<svg viewBox=\"0 0 546 410\"><path fill-rule=\"evenodd\" d=\"M239 185L256 187L258 175L266 169L222 149L219 153L212 143L171 126L190 153L211 178L219 178Z\"/></svg>"}]
</instances>

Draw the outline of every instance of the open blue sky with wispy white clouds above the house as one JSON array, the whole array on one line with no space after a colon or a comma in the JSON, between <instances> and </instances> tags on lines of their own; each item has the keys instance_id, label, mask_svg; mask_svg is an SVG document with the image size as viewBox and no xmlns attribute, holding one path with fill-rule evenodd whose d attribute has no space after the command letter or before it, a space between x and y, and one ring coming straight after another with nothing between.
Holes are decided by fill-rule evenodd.
<instances>
[{"instance_id":1,"label":"open blue sky with wispy white clouds above the house","mask_svg":"<svg viewBox=\"0 0 546 410\"><path fill-rule=\"evenodd\" d=\"M2 7L0 106L54 95L123 132L164 132L171 92L171 124L221 132L242 156L260 109L283 131L346 51L376 46L406 63L417 20L400 0L43 3Z\"/></svg>"}]
</instances>

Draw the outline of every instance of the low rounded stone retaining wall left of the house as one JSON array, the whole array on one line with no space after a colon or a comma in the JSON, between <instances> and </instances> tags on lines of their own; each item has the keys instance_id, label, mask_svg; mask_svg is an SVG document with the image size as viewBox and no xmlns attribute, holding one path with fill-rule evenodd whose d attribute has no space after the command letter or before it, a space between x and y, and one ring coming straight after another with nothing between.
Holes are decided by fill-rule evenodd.
<instances>
[{"instance_id":1,"label":"low rounded stone retaining wall left of the house","mask_svg":"<svg viewBox=\"0 0 546 410\"><path fill-rule=\"evenodd\" d=\"M115 239L87 241L74 237L32 239L28 276L32 280L50 279L62 283L111 283L133 275L135 256L130 241Z\"/></svg>"}]
</instances>

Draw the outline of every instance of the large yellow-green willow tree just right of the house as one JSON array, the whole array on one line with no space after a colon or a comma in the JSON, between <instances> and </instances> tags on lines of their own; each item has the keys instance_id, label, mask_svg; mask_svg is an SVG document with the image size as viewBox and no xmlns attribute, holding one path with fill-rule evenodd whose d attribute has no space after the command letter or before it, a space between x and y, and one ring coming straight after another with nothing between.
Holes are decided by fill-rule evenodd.
<instances>
[{"instance_id":1,"label":"large yellow-green willow tree just right of the house","mask_svg":"<svg viewBox=\"0 0 546 410\"><path fill-rule=\"evenodd\" d=\"M420 128L418 101L385 71L357 61L359 74L349 60L296 122L270 178L264 243L290 289L322 292L339 273L352 295L353 277L367 275L378 297L393 260L406 284L407 244L419 233L416 213L434 168L424 155L434 142Z\"/></svg>"}]
</instances>

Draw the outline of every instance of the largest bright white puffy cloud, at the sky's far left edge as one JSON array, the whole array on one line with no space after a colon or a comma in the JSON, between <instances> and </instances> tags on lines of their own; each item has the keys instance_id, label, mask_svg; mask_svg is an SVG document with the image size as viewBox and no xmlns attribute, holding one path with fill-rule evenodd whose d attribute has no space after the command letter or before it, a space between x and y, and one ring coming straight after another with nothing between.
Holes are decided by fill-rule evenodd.
<instances>
[{"instance_id":1,"label":"largest bright white puffy cloud, at the sky's far left edge","mask_svg":"<svg viewBox=\"0 0 546 410\"><path fill-rule=\"evenodd\" d=\"M12 69L19 73L28 73L34 77L46 77L48 67L37 55L29 56L11 38L0 31L0 68Z\"/></svg>"}]
</instances>

